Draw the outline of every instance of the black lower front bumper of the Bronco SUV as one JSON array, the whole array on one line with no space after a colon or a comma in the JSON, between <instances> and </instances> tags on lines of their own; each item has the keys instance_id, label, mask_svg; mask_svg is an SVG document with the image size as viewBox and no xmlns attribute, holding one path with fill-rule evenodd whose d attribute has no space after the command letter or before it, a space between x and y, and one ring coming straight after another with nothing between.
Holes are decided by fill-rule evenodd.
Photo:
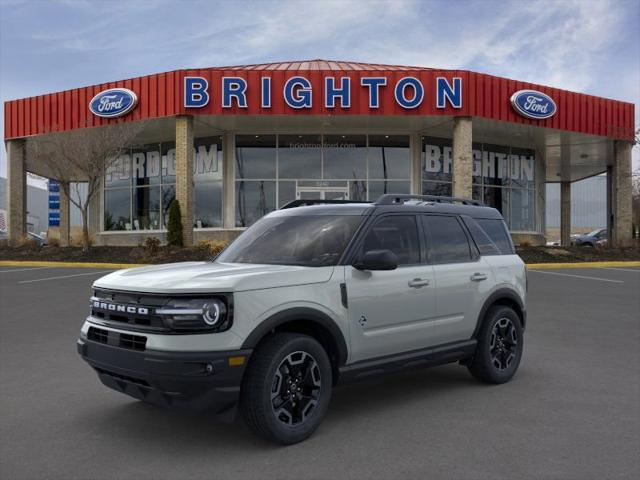
<instances>
[{"instance_id":1,"label":"black lower front bumper of the Bronco SUV","mask_svg":"<svg viewBox=\"0 0 640 480\"><path fill-rule=\"evenodd\" d=\"M251 355L251 350L135 351L83 338L77 347L109 388L163 407L220 415L235 410Z\"/></svg>"}]
</instances>

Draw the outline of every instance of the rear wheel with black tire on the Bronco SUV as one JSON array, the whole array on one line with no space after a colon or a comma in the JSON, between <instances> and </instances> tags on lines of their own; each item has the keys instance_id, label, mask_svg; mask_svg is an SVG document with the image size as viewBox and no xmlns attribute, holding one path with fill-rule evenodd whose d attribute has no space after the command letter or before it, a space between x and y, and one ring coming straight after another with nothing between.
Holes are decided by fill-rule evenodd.
<instances>
[{"instance_id":1,"label":"rear wheel with black tire on the Bronco SUV","mask_svg":"<svg viewBox=\"0 0 640 480\"><path fill-rule=\"evenodd\" d=\"M520 317L513 309L496 305L484 318L477 336L478 346L467 368L486 383L505 383L518 370L523 335Z\"/></svg>"}]
</instances>

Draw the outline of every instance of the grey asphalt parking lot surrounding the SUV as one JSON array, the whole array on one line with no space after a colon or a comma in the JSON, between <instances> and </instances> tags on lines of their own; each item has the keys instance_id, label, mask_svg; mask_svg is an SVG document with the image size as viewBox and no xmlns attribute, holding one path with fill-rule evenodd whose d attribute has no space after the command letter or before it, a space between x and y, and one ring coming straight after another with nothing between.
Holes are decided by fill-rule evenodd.
<instances>
[{"instance_id":1,"label":"grey asphalt parking lot surrounding the SUV","mask_svg":"<svg viewBox=\"0 0 640 480\"><path fill-rule=\"evenodd\" d=\"M291 447L103 387L75 340L104 273L0 268L1 478L640 478L640 269L531 271L511 383L447 365L339 387Z\"/></svg>"}]
</instances>

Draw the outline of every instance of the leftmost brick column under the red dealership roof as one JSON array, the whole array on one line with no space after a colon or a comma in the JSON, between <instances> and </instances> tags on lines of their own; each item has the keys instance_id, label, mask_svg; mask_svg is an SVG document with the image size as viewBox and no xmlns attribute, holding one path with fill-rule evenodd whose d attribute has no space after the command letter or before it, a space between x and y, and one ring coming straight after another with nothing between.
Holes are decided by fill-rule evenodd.
<instances>
[{"instance_id":1,"label":"leftmost brick column under the red dealership roof","mask_svg":"<svg viewBox=\"0 0 640 480\"><path fill-rule=\"evenodd\" d=\"M27 172L25 141L7 141L7 228L9 243L18 245L27 234Z\"/></svg>"}]
</instances>

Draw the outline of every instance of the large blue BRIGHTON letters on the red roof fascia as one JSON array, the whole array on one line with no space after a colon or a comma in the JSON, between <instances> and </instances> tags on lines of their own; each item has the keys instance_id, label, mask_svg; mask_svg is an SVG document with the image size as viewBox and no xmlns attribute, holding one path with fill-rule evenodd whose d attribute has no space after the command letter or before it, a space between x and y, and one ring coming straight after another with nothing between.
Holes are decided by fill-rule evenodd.
<instances>
[{"instance_id":1,"label":"large blue BRIGHTON letters on the red roof fascia","mask_svg":"<svg viewBox=\"0 0 640 480\"><path fill-rule=\"evenodd\" d=\"M262 77L259 84L259 99L262 108L271 108L271 77ZM380 108L382 90L391 87L395 102L402 108L410 110L419 107L425 98L425 88L415 77L401 77L389 84L387 77L361 77L358 85L351 84L350 77L325 77L323 79L322 105L325 108L351 107L351 98L355 89L361 89L368 97L369 108ZM218 91L217 88L213 89ZM242 77L222 77L220 99L222 108L247 108L249 84ZM462 108L462 78L451 80L445 77L436 78L435 100L437 108ZM284 82L282 96L286 105L294 109L313 108L314 90L311 81L304 76L291 77ZM316 93L317 94L317 93ZM212 89L204 77L184 77L185 108L202 108L209 104Z\"/></svg>"}]
</instances>

